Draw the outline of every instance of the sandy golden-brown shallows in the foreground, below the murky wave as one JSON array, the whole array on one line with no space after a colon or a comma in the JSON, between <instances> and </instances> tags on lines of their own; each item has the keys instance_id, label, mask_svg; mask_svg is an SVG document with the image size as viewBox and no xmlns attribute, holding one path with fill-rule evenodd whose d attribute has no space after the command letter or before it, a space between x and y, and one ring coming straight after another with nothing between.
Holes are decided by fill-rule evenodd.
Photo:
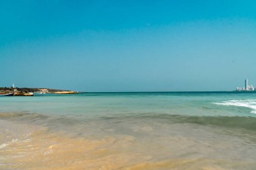
<instances>
[{"instance_id":1,"label":"sandy golden-brown shallows in the foreground, below the murky wave","mask_svg":"<svg viewBox=\"0 0 256 170\"><path fill-rule=\"evenodd\" d=\"M84 128L92 137L54 130L46 122L18 121L15 114L1 116L0 169L222 170L256 165L251 140L194 124L94 122Z\"/></svg>"}]
</instances>

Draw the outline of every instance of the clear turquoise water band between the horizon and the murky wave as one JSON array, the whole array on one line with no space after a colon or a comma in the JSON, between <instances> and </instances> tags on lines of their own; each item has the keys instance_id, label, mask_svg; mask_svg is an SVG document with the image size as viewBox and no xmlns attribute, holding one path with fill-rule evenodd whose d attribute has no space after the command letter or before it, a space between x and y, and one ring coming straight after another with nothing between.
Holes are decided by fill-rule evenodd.
<instances>
[{"instance_id":1,"label":"clear turquoise water band between the horizon and the murky wave","mask_svg":"<svg viewBox=\"0 0 256 170\"><path fill-rule=\"evenodd\" d=\"M245 104L244 107L243 104ZM255 117L256 93L81 93L78 95L1 97L0 107L1 112L74 117L77 114L85 116L179 114Z\"/></svg>"}]
</instances>

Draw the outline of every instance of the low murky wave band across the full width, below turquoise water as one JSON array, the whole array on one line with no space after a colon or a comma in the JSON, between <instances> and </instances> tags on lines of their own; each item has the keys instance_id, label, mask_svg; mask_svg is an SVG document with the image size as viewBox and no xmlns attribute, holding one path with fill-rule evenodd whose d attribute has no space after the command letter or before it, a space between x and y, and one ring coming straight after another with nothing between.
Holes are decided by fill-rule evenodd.
<instances>
[{"instance_id":1,"label":"low murky wave band across the full width, below turquoise water","mask_svg":"<svg viewBox=\"0 0 256 170\"><path fill-rule=\"evenodd\" d=\"M239 105L241 106L241 105ZM256 107L256 106L255 106ZM256 110L256 108L255 108ZM245 130L256 130L256 117L253 116L186 116L179 114L129 114L129 115L108 115L94 118L90 121L86 119L74 120L71 118L59 118L58 116L44 116L42 114L20 114L20 113L6 113L0 114L0 120L25 120L26 122L33 122L35 124L43 124L44 126L51 126L54 129L68 128L72 130L77 126L82 126L91 122L98 124L123 124L124 122L150 122L160 124L199 124L202 126L219 126L226 128L238 128Z\"/></svg>"}]
</instances>

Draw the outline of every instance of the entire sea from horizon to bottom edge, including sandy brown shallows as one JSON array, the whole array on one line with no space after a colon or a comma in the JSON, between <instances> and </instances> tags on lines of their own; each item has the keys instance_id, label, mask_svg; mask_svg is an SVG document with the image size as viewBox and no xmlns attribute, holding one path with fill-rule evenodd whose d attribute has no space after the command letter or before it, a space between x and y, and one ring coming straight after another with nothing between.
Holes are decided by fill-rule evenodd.
<instances>
[{"instance_id":1,"label":"entire sea from horizon to bottom edge, including sandy brown shallows","mask_svg":"<svg viewBox=\"0 0 256 170\"><path fill-rule=\"evenodd\" d=\"M255 169L256 93L0 97L0 169Z\"/></svg>"}]
</instances>

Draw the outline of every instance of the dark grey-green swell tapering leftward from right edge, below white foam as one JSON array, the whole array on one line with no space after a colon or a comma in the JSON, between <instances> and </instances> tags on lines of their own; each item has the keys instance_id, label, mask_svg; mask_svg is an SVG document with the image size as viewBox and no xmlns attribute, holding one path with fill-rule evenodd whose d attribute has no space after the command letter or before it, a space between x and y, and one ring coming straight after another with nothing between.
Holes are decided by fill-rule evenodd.
<instances>
[{"instance_id":1,"label":"dark grey-green swell tapering leftward from right edge, below white foam","mask_svg":"<svg viewBox=\"0 0 256 170\"><path fill-rule=\"evenodd\" d=\"M245 130L256 130L256 118L251 116L185 116L175 114L140 114L136 116L102 117L115 121L154 121L162 124L199 124L202 126L219 126Z\"/></svg>"}]
</instances>

